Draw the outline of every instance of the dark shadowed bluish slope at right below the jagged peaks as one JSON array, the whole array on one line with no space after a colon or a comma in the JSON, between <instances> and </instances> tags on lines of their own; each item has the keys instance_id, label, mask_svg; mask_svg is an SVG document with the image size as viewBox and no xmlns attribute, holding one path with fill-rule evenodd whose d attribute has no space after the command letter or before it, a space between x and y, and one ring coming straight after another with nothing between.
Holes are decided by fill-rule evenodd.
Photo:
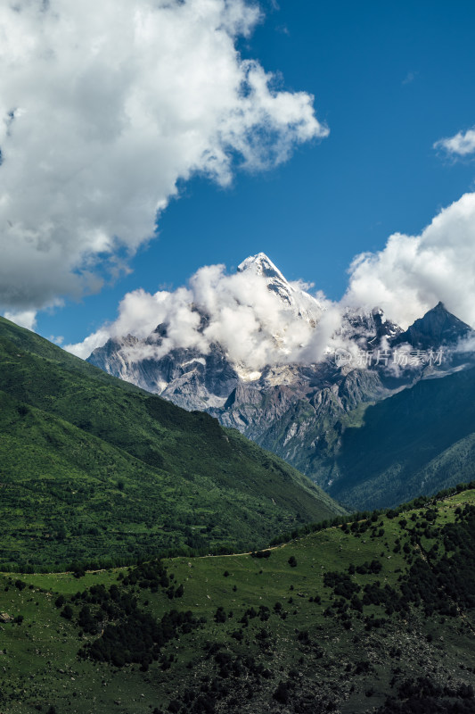
<instances>
[{"instance_id":1,"label":"dark shadowed bluish slope at right below the jagged peaks","mask_svg":"<svg viewBox=\"0 0 475 714\"><path fill-rule=\"evenodd\" d=\"M428 379L364 411L345 431L329 493L384 508L473 476L475 369Z\"/></svg>"}]
</instances>

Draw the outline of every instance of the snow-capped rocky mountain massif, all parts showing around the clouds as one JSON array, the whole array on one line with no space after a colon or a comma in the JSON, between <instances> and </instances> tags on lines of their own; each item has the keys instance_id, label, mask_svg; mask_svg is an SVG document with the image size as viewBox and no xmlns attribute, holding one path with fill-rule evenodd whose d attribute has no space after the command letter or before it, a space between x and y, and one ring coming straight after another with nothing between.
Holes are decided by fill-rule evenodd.
<instances>
[{"instance_id":1,"label":"snow-capped rocky mountain massif, all parts showing around the clouds","mask_svg":"<svg viewBox=\"0 0 475 714\"><path fill-rule=\"evenodd\" d=\"M315 327L321 318L323 306L288 283L264 253L248 258L238 270L262 278L296 320ZM200 314L200 329L207 328L209 316L199 306L192 309ZM348 425L361 423L365 405L438 374L427 364L396 371L376 365L361 369L332 357L316 364L280 364L253 372L233 364L218 344L210 345L207 353L185 348L162 354L167 330L161 324L144 340L134 336L109 340L88 361L184 409L208 411L225 427L239 429L327 488L340 476L335 455L341 436ZM401 345L409 351L453 348L470 334L471 328L442 303L405 331L378 308L348 309L340 326L340 336L362 352ZM447 360L440 375L459 369L460 364L460 359Z\"/></svg>"}]
</instances>

